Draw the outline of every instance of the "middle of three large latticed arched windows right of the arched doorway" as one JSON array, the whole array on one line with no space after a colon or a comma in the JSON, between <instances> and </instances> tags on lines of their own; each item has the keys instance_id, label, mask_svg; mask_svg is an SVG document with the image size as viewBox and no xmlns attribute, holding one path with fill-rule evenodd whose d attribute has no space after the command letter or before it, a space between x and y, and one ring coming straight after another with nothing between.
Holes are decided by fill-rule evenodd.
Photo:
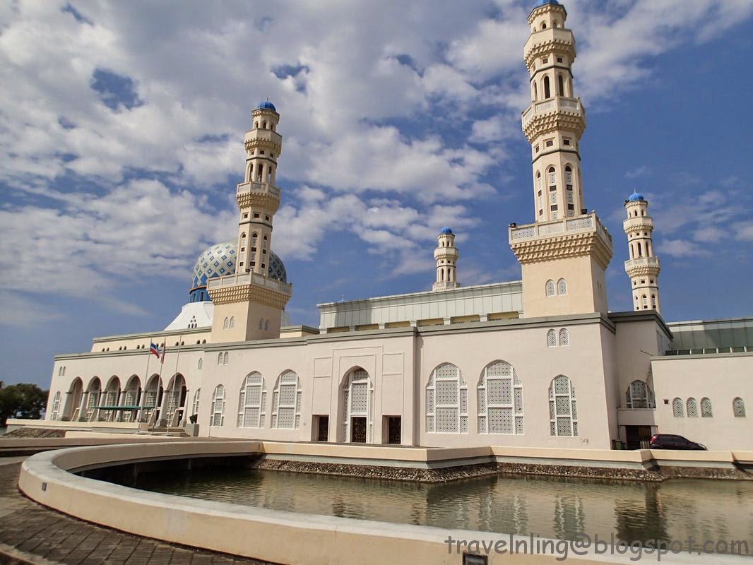
<instances>
[{"instance_id":1,"label":"middle of three large latticed arched windows right of the arched doorway","mask_svg":"<svg viewBox=\"0 0 753 565\"><path fill-rule=\"evenodd\" d=\"M486 365L476 395L480 434L523 434L523 384L510 363Z\"/></svg>"}]
</instances>

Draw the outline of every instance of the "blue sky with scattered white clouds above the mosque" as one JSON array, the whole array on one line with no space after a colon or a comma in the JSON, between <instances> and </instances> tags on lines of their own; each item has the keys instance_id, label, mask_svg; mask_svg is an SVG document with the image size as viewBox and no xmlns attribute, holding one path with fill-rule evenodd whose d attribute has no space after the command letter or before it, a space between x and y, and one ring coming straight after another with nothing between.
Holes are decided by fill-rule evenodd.
<instances>
[{"instance_id":1,"label":"blue sky with scattered white clouds above the mosque","mask_svg":"<svg viewBox=\"0 0 753 565\"><path fill-rule=\"evenodd\" d=\"M316 304L520 277L533 219L523 43L531 2L11 2L0 6L0 380L164 328L194 259L236 237L249 111L281 115L273 249ZM587 108L584 198L614 237L651 202L666 319L753 315L749 0L567 2Z\"/></svg>"}]
</instances>

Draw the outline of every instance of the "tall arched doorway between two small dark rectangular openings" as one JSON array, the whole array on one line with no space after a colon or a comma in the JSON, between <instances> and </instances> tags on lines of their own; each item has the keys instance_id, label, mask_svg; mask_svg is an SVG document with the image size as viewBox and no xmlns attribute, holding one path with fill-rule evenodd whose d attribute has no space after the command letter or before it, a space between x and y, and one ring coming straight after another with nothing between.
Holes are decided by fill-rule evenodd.
<instances>
[{"instance_id":1,"label":"tall arched doorway between two small dark rectangular openings","mask_svg":"<svg viewBox=\"0 0 753 565\"><path fill-rule=\"evenodd\" d=\"M343 382L343 441L373 442L373 381L361 367Z\"/></svg>"}]
</instances>

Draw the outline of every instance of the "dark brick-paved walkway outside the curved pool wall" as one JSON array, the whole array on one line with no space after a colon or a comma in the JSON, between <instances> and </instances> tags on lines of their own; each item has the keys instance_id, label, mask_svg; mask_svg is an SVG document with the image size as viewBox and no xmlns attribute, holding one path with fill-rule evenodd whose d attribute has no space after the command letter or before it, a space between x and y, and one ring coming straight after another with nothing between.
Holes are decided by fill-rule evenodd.
<instances>
[{"instance_id":1,"label":"dark brick-paved walkway outside the curved pool wall","mask_svg":"<svg viewBox=\"0 0 753 565\"><path fill-rule=\"evenodd\" d=\"M0 563L32 565L270 565L133 536L76 520L18 490L23 457L0 459Z\"/></svg>"}]
</instances>

